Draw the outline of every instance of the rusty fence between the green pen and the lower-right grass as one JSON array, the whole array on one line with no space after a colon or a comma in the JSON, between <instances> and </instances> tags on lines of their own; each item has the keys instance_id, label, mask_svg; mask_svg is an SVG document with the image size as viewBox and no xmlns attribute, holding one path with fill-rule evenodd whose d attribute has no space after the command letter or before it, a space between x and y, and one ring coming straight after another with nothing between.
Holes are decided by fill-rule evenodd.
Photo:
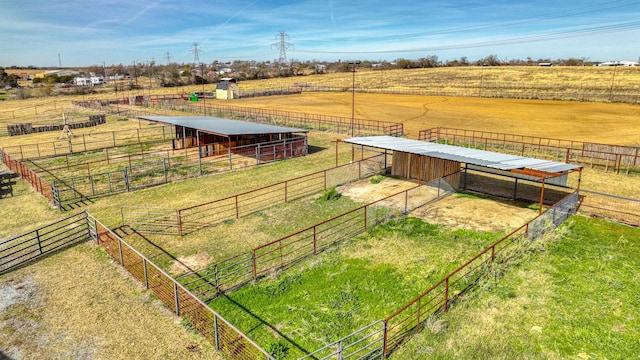
<instances>
[{"instance_id":1,"label":"rusty fence between the green pen and the lower-right grass","mask_svg":"<svg viewBox=\"0 0 640 360\"><path fill-rule=\"evenodd\" d=\"M578 207L575 191L533 220L498 240L465 264L452 271L424 293L388 316L384 322L384 354L390 354L410 335L420 330L428 319L447 312L464 292L490 273L493 266L518 257L526 246L559 226ZM519 246L521 245L521 246Z\"/></svg>"}]
</instances>

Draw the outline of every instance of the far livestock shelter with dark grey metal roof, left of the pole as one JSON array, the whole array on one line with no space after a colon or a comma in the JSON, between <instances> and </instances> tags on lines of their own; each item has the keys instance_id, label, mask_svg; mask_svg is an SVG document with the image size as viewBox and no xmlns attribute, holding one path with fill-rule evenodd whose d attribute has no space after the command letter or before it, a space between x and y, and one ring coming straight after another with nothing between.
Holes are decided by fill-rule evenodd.
<instances>
[{"instance_id":1,"label":"far livestock shelter with dark grey metal roof, left of the pole","mask_svg":"<svg viewBox=\"0 0 640 360\"><path fill-rule=\"evenodd\" d=\"M197 147L199 156L228 153L272 154L273 159L308 154L308 130L212 116L139 116L175 127L173 149Z\"/></svg>"}]
</instances>

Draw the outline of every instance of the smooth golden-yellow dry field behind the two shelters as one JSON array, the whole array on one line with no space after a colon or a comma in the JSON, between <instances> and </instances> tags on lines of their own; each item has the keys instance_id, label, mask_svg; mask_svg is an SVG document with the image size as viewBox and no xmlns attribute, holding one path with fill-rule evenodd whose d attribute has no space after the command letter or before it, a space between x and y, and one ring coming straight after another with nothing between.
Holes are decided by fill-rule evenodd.
<instances>
[{"instance_id":1,"label":"smooth golden-yellow dry field behind the two shelters","mask_svg":"<svg viewBox=\"0 0 640 360\"><path fill-rule=\"evenodd\" d=\"M351 116L350 93L240 99L237 106ZM405 133L444 126L606 144L640 144L640 106L414 95L355 95L357 118L401 122Z\"/></svg>"}]
</instances>

